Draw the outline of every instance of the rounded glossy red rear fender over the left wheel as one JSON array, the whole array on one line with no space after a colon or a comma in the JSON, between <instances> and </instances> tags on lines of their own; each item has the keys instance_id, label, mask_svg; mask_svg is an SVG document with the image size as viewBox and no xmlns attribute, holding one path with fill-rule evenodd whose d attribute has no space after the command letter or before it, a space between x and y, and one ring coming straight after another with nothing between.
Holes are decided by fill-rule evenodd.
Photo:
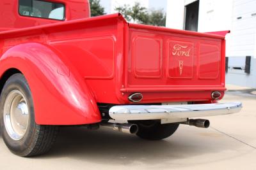
<instances>
[{"instance_id":1,"label":"rounded glossy red rear fender over the left wheel","mask_svg":"<svg viewBox=\"0 0 256 170\"><path fill-rule=\"evenodd\" d=\"M68 59L49 45L13 46L0 59L0 75L19 69L31 89L35 121L40 125L81 125L100 122L92 92Z\"/></svg>"}]
</instances>

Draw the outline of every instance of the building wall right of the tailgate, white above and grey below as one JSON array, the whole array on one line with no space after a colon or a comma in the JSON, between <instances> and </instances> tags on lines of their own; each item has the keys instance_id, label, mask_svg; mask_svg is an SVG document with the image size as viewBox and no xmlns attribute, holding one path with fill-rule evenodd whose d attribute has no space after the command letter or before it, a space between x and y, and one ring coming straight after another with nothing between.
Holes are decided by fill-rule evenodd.
<instances>
[{"instance_id":1,"label":"building wall right of the tailgate, white above and grey below","mask_svg":"<svg viewBox=\"0 0 256 170\"><path fill-rule=\"evenodd\" d=\"M227 56L227 83L256 88L256 1L234 0ZM250 74L244 73L245 56L252 56Z\"/></svg>"}]
</instances>

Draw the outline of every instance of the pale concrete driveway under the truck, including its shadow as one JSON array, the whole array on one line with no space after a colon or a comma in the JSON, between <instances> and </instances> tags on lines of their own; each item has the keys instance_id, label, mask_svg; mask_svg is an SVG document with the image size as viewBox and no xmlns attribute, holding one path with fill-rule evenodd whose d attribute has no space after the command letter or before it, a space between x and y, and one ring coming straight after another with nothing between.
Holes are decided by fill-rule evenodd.
<instances>
[{"instance_id":1,"label":"pale concrete driveway under the truck, including its shadow","mask_svg":"<svg viewBox=\"0 0 256 170\"><path fill-rule=\"evenodd\" d=\"M10 153L1 138L0 169L256 169L256 96L242 91L222 101L242 101L241 113L209 117L209 129L180 125L162 141L66 127L51 153L28 159Z\"/></svg>"}]
</instances>

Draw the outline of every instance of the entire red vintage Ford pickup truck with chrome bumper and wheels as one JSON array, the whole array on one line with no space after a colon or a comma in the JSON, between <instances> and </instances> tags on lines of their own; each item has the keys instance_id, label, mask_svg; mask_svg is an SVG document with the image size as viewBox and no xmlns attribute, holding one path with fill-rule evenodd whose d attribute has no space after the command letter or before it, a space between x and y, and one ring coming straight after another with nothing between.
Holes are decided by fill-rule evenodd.
<instances>
[{"instance_id":1,"label":"entire red vintage Ford pickup truck with chrome bumper and wheels","mask_svg":"<svg viewBox=\"0 0 256 170\"><path fill-rule=\"evenodd\" d=\"M60 125L157 140L241 110L217 103L225 32L91 18L87 0L1 0L0 20L1 135L22 157L49 151Z\"/></svg>"}]
</instances>

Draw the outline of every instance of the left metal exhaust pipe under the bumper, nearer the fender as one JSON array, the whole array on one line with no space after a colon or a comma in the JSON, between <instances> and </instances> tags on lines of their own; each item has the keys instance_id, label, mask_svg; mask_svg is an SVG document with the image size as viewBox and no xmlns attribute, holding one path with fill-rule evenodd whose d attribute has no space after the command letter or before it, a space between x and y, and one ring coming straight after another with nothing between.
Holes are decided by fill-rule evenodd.
<instances>
[{"instance_id":1,"label":"left metal exhaust pipe under the bumper, nearer the fender","mask_svg":"<svg viewBox=\"0 0 256 170\"><path fill-rule=\"evenodd\" d=\"M110 127L114 131L124 132L127 134L136 134L139 130L139 127L136 124L102 123L100 125L103 127Z\"/></svg>"}]
</instances>

